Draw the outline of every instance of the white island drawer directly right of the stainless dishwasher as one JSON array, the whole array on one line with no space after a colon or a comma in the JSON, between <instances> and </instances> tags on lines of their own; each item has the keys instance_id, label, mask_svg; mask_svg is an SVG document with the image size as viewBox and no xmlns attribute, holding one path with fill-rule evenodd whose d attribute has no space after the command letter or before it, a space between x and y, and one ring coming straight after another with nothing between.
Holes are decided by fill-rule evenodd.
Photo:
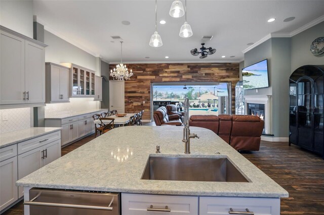
<instances>
[{"instance_id":1,"label":"white island drawer directly right of the stainless dishwasher","mask_svg":"<svg viewBox=\"0 0 324 215\"><path fill-rule=\"evenodd\" d=\"M170 211L151 211L148 208L168 209ZM198 214L197 196L171 196L121 193L121 214Z\"/></svg>"}]
</instances>

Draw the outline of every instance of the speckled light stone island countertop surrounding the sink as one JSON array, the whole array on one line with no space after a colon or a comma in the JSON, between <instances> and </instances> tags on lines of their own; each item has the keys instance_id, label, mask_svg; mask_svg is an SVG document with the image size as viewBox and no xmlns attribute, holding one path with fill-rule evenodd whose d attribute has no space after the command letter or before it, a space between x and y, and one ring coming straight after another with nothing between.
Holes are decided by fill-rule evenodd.
<instances>
[{"instance_id":1,"label":"speckled light stone island countertop surrounding the sink","mask_svg":"<svg viewBox=\"0 0 324 215\"><path fill-rule=\"evenodd\" d=\"M190 127L191 133L196 133L200 139L191 139L191 154L184 154L182 129L178 126L115 128L20 179L16 184L24 187L124 193L288 197L285 189L208 129ZM158 155L155 153L156 145L160 146L161 153ZM220 152L220 155L215 152ZM251 182L141 180L150 154L227 156ZM126 160L124 155L128 157Z\"/></svg>"}]
</instances>

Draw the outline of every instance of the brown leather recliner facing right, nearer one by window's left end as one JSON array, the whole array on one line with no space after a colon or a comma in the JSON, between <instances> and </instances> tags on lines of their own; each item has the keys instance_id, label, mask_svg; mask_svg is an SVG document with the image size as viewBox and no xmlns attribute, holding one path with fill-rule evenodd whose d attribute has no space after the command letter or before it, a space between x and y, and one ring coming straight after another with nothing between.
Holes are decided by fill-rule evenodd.
<instances>
[{"instance_id":1,"label":"brown leather recliner facing right, nearer one by window's left end","mask_svg":"<svg viewBox=\"0 0 324 215\"><path fill-rule=\"evenodd\" d=\"M182 122L180 120L180 116L178 114L168 115L167 109L164 106L159 107L153 113L153 118L155 125L177 125L181 126Z\"/></svg>"}]
</instances>

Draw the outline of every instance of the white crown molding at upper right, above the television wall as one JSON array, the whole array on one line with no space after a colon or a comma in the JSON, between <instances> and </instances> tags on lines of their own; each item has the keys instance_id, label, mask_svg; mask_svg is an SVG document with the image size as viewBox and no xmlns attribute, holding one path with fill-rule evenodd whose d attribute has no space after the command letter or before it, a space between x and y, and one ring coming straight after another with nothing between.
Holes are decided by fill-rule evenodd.
<instances>
[{"instance_id":1,"label":"white crown molding at upper right, above the television wall","mask_svg":"<svg viewBox=\"0 0 324 215\"><path fill-rule=\"evenodd\" d=\"M251 45L250 47L242 50L243 53L248 52L249 50L253 49L254 47L260 45L261 43L265 42L266 40L270 39L270 38L275 38L275 37L292 37L295 36L305 30L307 30L308 28L311 28L321 22L324 21L324 15L318 17L317 19L307 23L306 25L303 25L302 27L290 32L290 33L270 33L268 35L266 35L265 37L263 37L262 39L260 39L259 41L257 41L256 43L254 43L253 45Z\"/></svg>"}]
</instances>

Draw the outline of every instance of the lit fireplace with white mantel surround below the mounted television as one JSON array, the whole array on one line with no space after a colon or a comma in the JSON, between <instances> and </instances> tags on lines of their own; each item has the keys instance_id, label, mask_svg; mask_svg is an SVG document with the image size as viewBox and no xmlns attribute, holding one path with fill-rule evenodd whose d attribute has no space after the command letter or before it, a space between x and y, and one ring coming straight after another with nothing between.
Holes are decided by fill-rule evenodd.
<instances>
[{"instance_id":1,"label":"lit fireplace with white mantel surround below the mounted television","mask_svg":"<svg viewBox=\"0 0 324 215\"><path fill-rule=\"evenodd\" d=\"M264 120L264 134L270 134L270 97L271 95L245 95L245 114L256 115Z\"/></svg>"}]
</instances>

